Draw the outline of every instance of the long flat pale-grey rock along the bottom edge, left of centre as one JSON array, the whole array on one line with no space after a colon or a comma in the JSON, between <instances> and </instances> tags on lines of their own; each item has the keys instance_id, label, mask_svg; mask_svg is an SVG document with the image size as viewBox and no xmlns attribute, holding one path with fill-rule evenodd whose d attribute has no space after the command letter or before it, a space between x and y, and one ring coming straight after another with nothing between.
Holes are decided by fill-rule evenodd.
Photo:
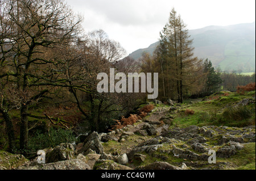
<instances>
[{"instance_id":1,"label":"long flat pale-grey rock along the bottom edge, left of centre","mask_svg":"<svg viewBox=\"0 0 256 181\"><path fill-rule=\"evenodd\" d=\"M91 168L81 159L69 159L55 163L25 167L22 170L91 170Z\"/></svg>"}]
</instances>

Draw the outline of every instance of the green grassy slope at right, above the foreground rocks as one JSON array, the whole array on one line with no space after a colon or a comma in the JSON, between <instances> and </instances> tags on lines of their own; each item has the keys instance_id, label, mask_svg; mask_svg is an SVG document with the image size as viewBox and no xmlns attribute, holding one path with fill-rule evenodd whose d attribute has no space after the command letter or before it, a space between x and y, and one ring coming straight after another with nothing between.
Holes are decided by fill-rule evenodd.
<instances>
[{"instance_id":1,"label":"green grassy slope at right, above the foreground rocks","mask_svg":"<svg viewBox=\"0 0 256 181\"><path fill-rule=\"evenodd\" d=\"M235 105L245 98L252 99L255 91L246 92L244 95L236 92L220 92L213 94L202 102L191 104L176 113L172 127L188 127L190 125L226 125L229 127L245 127L255 125L255 104L247 106ZM186 109L193 110L193 115L185 115Z\"/></svg>"}]
</instances>

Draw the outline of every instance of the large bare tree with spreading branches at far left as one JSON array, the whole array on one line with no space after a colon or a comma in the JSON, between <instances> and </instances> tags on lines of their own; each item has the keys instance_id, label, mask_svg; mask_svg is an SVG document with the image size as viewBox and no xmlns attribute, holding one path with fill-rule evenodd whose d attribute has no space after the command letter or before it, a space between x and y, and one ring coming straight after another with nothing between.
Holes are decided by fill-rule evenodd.
<instances>
[{"instance_id":1,"label":"large bare tree with spreading branches at far left","mask_svg":"<svg viewBox=\"0 0 256 181\"><path fill-rule=\"evenodd\" d=\"M46 86L63 86L60 57L54 49L72 45L81 33L81 16L61 0L12 0L1 3L0 78L20 95L20 149L28 141L28 108L43 98ZM57 69L56 69L57 68ZM3 99L6 94L3 94ZM3 105L4 106L4 105Z\"/></svg>"}]
</instances>

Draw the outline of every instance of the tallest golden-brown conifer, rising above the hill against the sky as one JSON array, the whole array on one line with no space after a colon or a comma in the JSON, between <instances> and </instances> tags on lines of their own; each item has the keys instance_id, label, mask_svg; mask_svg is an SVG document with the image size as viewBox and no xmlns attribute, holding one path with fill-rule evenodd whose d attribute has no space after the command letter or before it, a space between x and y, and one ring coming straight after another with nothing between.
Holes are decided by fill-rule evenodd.
<instances>
[{"instance_id":1,"label":"tallest golden-brown conifer, rising above the hill against the sky","mask_svg":"<svg viewBox=\"0 0 256 181\"><path fill-rule=\"evenodd\" d=\"M198 80L198 74L195 73L201 69L201 61L193 57L192 42L180 15L172 9L168 23L160 33L158 57L162 74L163 71L166 74L164 82L167 82L167 85L164 87L167 87L167 96L180 103L183 102L184 92L188 92Z\"/></svg>"}]
</instances>

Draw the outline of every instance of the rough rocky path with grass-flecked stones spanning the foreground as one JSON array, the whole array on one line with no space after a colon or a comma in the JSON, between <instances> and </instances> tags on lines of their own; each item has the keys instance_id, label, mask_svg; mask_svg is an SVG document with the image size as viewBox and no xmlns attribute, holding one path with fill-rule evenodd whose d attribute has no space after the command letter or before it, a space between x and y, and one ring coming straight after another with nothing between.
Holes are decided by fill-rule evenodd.
<instances>
[{"instance_id":1,"label":"rough rocky path with grass-flecked stones spanning the foreground","mask_svg":"<svg viewBox=\"0 0 256 181\"><path fill-rule=\"evenodd\" d=\"M110 133L93 132L76 145L44 149L46 164L39 165L36 158L16 169L234 169L241 151L254 146L255 154L255 126L170 129L169 110L155 108L134 125ZM216 163L208 162L209 151L216 153ZM0 161L1 168L5 169Z\"/></svg>"}]
</instances>

